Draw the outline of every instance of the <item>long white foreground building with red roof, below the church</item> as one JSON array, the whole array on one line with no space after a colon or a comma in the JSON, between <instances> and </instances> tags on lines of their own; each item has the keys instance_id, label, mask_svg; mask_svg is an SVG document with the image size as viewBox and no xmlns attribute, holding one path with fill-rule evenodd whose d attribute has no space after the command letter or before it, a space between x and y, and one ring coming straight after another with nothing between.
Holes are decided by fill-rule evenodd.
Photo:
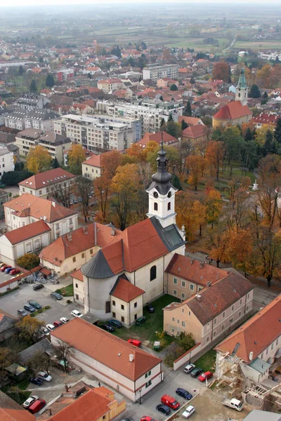
<instances>
[{"instance_id":1,"label":"long white foreground building with red roof, below the church","mask_svg":"<svg viewBox=\"0 0 281 421\"><path fill-rule=\"evenodd\" d=\"M79 317L51 332L74 349L75 366L136 402L163 380L162 360Z\"/></svg>"}]
</instances>

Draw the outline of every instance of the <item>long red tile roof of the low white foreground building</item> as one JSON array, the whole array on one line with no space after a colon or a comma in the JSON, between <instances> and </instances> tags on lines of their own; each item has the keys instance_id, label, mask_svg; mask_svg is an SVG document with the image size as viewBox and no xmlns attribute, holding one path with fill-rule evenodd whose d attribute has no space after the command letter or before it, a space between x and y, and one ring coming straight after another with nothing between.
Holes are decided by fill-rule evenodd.
<instances>
[{"instance_id":1,"label":"long red tile roof of the low white foreground building","mask_svg":"<svg viewBox=\"0 0 281 421\"><path fill-rule=\"evenodd\" d=\"M53 330L51 337L66 342L133 381L162 361L79 317ZM130 354L133 354L133 361L129 361Z\"/></svg>"}]
</instances>

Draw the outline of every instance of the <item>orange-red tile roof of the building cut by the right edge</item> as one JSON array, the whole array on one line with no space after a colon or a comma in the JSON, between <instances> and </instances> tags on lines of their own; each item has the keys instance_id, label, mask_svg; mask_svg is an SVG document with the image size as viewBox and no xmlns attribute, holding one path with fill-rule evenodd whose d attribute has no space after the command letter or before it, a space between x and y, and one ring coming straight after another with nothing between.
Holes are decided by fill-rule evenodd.
<instances>
[{"instance_id":1,"label":"orange-red tile roof of the building cut by the right edge","mask_svg":"<svg viewBox=\"0 0 281 421\"><path fill-rule=\"evenodd\" d=\"M281 335L281 295L216 346L250 363ZM250 360L249 354L253 352Z\"/></svg>"}]
</instances>

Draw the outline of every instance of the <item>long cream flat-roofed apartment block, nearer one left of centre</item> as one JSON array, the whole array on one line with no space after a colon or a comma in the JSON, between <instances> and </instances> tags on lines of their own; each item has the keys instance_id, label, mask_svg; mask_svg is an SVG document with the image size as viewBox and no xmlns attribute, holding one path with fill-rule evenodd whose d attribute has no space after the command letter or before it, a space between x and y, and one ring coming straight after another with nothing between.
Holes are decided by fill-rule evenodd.
<instances>
[{"instance_id":1,"label":"long cream flat-roofed apartment block, nearer one left of centre","mask_svg":"<svg viewBox=\"0 0 281 421\"><path fill-rule=\"evenodd\" d=\"M131 142L136 142L135 136L138 133L135 121L110 121L106 116L74 114L67 114L55 121L54 132L67 136L89 151L99 153L127 149Z\"/></svg>"}]
</instances>

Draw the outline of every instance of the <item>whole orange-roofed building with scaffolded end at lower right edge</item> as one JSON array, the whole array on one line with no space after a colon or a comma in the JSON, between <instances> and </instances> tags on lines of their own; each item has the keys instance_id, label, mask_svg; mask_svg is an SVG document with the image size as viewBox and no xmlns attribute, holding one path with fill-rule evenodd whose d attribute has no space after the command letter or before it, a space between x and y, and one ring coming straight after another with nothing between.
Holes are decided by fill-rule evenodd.
<instances>
[{"instance_id":1,"label":"whole orange-roofed building with scaffolded end at lower right edge","mask_svg":"<svg viewBox=\"0 0 281 421\"><path fill-rule=\"evenodd\" d=\"M281 295L260 309L216 346L216 375L229 379L241 373L254 383L268 379L270 366L281 356Z\"/></svg>"}]
</instances>

